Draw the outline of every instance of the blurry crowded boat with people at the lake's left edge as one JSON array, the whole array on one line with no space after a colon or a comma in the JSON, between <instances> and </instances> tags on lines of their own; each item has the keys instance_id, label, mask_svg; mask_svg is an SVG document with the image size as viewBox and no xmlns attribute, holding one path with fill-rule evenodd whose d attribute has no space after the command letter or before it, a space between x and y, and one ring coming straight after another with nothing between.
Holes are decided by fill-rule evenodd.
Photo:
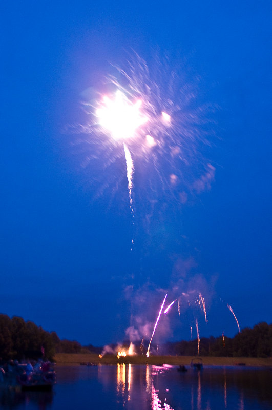
<instances>
[{"instance_id":1,"label":"blurry crowded boat with people at the lake's left edge","mask_svg":"<svg viewBox=\"0 0 272 410\"><path fill-rule=\"evenodd\" d=\"M50 391L56 383L56 372L50 362L39 361L19 364L10 361L0 367L0 387L9 389Z\"/></svg>"}]
</instances>

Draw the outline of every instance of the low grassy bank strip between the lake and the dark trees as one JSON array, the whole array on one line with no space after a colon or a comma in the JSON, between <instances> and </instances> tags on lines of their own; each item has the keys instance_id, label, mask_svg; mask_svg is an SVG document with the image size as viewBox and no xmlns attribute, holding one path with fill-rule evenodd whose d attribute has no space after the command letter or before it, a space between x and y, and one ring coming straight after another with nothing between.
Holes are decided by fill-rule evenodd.
<instances>
[{"instance_id":1,"label":"low grassy bank strip between the lake and the dark trees","mask_svg":"<svg viewBox=\"0 0 272 410\"><path fill-rule=\"evenodd\" d=\"M97 354L68 354L58 353L54 360L57 364L79 365L80 363L101 363L101 364L185 364L189 365L192 356L150 356L143 355L122 357L119 360L115 355L106 355L100 358ZM197 360L197 359L195 359ZM272 358L259 357L202 357L203 365L228 365L234 366L238 363L245 363L246 366L271 367Z\"/></svg>"}]
</instances>

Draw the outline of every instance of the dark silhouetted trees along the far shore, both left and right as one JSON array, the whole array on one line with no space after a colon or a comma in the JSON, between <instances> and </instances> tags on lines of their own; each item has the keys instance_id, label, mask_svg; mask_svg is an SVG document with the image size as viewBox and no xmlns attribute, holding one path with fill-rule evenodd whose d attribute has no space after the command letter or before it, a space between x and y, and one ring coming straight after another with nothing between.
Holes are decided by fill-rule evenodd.
<instances>
[{"instance_id":1,"label":"dark silhouetted trees along the far shore, both left and right","mask_svg":"<svg viewBox=\"0 0 272 410\"><path fill-rule=\"evenodd\" d=\"M136 351L137 349L136 345ZM82 347L77 341L60 340L56 332L47 332L41 326L22 317L0 314L0 358L2 360L44 357L53 360L56 353L101 353L101 347ZM164 354L194 356L198 354L198 340L168 342ZM143 352L139 350L139 354ZM272 324L246 327L233 338L226 336L200 338L200 356L271 357Z\"/></svg>"}]
</instances>

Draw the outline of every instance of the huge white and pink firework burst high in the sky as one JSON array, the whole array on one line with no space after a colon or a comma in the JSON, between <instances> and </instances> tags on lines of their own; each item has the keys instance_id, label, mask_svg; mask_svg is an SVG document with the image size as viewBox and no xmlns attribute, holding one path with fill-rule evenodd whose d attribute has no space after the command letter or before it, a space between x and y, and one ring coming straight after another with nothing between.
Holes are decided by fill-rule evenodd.
<instances>
[{"instance_id":1,"label":"huge white and pink firework burst high in the sky","mask_svg":"<svg viewBox=\"0 0 272 410\"><path fill-rule=\"evenodd\" d=\"M214 134L214 107L199 103L199 78L190 75L184 59L171 63L155 54L148 66L135 53L114 70L106 81L108 92L83 101L89 122L71 127L83 135L74 144L86 152L82 165L92 168L95 197L107 191L112 196L119 188L124 150L131 205L133 167L146 203L170 195L184 204L209 189L215 168L201 151Z\"/></svg>"}]
</instances>

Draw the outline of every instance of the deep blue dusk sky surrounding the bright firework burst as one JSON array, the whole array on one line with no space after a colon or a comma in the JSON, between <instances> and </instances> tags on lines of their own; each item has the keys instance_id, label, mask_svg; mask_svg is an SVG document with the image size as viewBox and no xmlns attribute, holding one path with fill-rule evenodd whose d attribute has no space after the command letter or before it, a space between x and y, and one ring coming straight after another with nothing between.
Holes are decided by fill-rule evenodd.
<instances>
[{"instance_id":1,"label":"deep blue dusk sky surrounding the bright firework burst","mask_svg":"<svg viewBox=\"0 0 272 410\"><path fill-rule=\"evenodd\" d=\"M166 292L180 315L176 302L157 343L189 339L190 326L195 338L196 319L200 338L234 336L227 303L241 329L271 323L271 11L233 0L0 6L1 313L94 345L148 339ZM89 120L82 98L134 51L156 66L154 49L195 90L187 114L205 107L210 122L194 125L186 172L168 147L150 161L132 150L133 218L121 151L77 130ZM172 173L184 176L178 195Z\"/></svg>"}]
</instances>

